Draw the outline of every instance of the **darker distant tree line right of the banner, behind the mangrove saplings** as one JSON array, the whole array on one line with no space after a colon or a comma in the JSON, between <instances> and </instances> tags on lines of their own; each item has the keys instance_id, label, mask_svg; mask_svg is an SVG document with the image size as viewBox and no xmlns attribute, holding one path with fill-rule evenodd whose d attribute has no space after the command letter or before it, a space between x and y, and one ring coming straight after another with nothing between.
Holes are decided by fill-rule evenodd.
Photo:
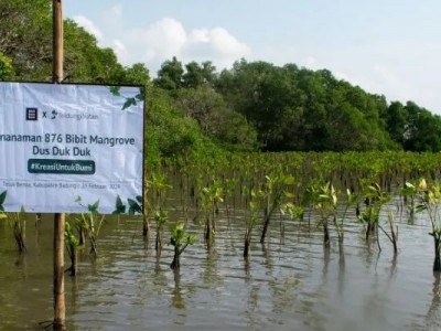
<instances>
[{"instance_id":1,"label":"darker distant tree line right of the banner, behind the mangrove saplings","mask_svg":"<svg viewBox=\"0 0 441 331\"><path fill-rule=\"evenodd\" d=\"M153 79L204 134L263 151L439 151L441 118L413 102L335 78L327 70L237 61L216 73L209 62L163 63ZM228 132L225 132L227 129ZM244 132L246 138L240 136Z\"/></svg>"}]
</instances>

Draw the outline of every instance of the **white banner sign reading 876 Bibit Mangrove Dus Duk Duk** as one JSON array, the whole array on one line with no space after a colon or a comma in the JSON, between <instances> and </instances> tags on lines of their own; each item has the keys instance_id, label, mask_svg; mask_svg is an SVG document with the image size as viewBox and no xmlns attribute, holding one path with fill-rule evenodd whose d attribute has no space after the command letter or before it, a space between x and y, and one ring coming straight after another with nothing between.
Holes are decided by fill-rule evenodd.
<instances>
[{"instance_id":1,"label":"white banner sign reading 876 Bibit Mangrove Dus Duk Duk","mask_svg":"<svg viewBox=\"0 0 441 331\"><path fill-rule=\"evenodd\" d=\"M0 211L137 211L142 162L140 87L0 83Z\"/></svg>"}]
</instances>

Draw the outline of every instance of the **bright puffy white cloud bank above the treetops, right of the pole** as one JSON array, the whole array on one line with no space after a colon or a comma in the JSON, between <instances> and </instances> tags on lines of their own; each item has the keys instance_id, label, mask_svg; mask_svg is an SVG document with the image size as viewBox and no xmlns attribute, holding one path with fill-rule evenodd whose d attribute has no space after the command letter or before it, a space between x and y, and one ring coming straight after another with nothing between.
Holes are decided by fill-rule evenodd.
<instances>
[{"instance_id":1,"label":"bright puffy white cloud bank above the treetops, right of the pole","mask_svg":"<svg viewBox=\"0 0 441 331\"><path fill-rule=\"evenodd\" d=\"M122 6L114 6L103 13L100 23L106 35L84 15L74 17L74 21L94 34L100 46L114 49L122 64L143 62L153 75L173 56L183 64L212 61L217 70L223 70L251 55L247 44L222 26L187 30L173 18L162 18L144 28L125 28L122 11Z\"/></svg>"}]
</instances>

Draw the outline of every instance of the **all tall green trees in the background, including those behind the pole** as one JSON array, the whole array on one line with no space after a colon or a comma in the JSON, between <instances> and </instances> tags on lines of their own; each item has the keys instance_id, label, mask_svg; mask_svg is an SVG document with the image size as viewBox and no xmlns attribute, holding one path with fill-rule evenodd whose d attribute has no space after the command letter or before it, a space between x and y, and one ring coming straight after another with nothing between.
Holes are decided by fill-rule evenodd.
<instances>
[{"instance_id":1,"label":"all tall green trees in the background, including those behind the pole","mask_svg":"<svg viewBox=\"0 0 441 331\"><path fill-rule=\"evenodd\" d=\"M0 79L52 79L49 1L0 0ZM142 84L148 162L223 151L441 150L441 118L412 102L388 103L326 70L237 61L122 66L110 49L67 19L66 83Z\"/></svg>"}]
</instances>

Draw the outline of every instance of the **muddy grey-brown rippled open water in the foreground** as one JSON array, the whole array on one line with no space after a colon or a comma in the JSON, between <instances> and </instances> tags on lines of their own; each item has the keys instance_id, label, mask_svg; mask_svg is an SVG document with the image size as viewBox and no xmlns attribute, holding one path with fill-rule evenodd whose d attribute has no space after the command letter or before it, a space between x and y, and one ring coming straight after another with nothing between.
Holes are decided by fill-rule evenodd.
<instances>
[{"instance_id":1,"label":"muddy grey-brown rippled open water in the foreground","mask_svg":"<svg viewBox=\"0 0 441 331\"><path fill-rule=\"evenodd\" d=\"M380 253L375 242L367 245L355 221L347 222L342 258L335 239L326 252L320 231L291 221L281 228L275 218L269 243L258 244L257 229L245 261L244 215L228 221L220 213L211 252L203 226L189 224L197 243L174 273L171 246L159 258L146 250L140 220L108 218L99 257L83 254L80 275L66 277L67 329L440 330L430 224L422 216L399 222L396 258L384 235ZM35 330L53 318L52 223L44 215L36 231L29 218L22 256L0 224L0 330Z\"/></svg>"}]
</instances>

